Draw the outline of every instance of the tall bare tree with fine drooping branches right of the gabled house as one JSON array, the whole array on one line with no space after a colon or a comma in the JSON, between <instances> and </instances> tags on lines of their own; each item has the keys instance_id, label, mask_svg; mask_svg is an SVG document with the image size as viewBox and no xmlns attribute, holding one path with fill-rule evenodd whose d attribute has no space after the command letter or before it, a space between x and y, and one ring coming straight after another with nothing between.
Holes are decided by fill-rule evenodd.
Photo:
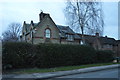
<instances>
[{"instance_id":1,"label":"tall bare tree with fine drooping branches right of the gabled house","mask_svg":"<svg viewBox=\"0 0 120 80\"><path fill-rule=\"evenodd\" d=\"M102 4L100 2L72 2L66 3L64 10L67 24L77 33L84 34L99 33L103 35L104 21Z\"/></svg>"}]
</instances>

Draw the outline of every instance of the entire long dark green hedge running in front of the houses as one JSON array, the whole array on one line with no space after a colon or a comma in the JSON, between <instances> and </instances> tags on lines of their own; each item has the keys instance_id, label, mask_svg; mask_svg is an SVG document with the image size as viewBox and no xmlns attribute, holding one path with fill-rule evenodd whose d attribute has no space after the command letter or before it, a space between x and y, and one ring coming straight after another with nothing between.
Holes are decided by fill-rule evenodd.
<instances>
[{"instance_id":1,"label":"entire long dark green hedge running in front of the houses","mask_svg":"<svg viewBox=\"0 0 120 80\"><path fill-rule=\"evenodd\" d=\"M103 53L103 54L102 54ZM106 60L107 57L108 60ZM3 44L3 68L50 68L110 62L111 53L95 51L83 45L39 44L22 42Z\"/></svg>"}]
</instances>

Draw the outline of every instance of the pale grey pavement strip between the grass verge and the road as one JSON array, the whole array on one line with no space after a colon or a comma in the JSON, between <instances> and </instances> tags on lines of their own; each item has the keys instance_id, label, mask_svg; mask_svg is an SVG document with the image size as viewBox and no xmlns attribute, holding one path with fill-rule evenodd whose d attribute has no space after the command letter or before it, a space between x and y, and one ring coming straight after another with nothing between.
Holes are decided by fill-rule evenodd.
<instances>
[{"instance_id":1,"label":"pale grey pavement strip between the grass verge and the road","mask_svg":"<svg viewBox=\"0 0 120 80\"><path fill-rule=\"evenodd\" d=\"M107 65L107 66L89 67L89 68L84 68L84 69L75 69L75 70L69 70L69 71L32 73L32 74L5 74L5 75L2 75L2 77L3 78L26 78L26 79L27 78L49 79L49 78L54 78L54 77L66 76L66 75L95 72L95 71L100 71L100 70L105 70L105 69L114 69L118 67L120 67L120 65L114 64L114 65Z\"/></svg>"}]
</instances>

